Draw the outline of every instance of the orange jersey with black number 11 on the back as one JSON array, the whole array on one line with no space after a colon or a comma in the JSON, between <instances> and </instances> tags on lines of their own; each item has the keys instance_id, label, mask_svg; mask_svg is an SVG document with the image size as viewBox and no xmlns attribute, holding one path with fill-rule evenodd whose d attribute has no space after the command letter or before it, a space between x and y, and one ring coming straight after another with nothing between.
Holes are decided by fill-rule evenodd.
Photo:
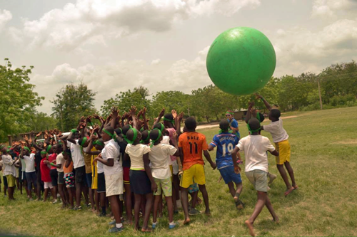
<instances>
[{"instance_id":1,"label":"orange jersey with black number 11 on the back","mask_svg":"<svg viewBox=\"0 0 357 237\"><path fill-rule=\"evenodd\" d=\"M193 164L204 164L202 151L208 149L205 135L198 132L184 132L178 138L178 147L183 151L183 170L189 169Z\"/></svg>"}]
</instances>

